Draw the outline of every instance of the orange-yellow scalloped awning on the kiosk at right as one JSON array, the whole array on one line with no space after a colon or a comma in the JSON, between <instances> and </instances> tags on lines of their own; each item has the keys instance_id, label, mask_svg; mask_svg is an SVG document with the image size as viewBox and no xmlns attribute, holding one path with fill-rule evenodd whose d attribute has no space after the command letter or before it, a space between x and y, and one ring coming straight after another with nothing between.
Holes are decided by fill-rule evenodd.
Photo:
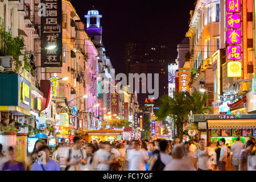
<instances>
[{"instance_id":1,"label":"orange-yellow scalloped awning on the kiosk at right","mask_svg":"<svg viewBox=\"0 0 256 182\"><path fill-rule=\"evenodd\" d=\"M208 119L208 129L256 129L256 119Z\"/></svg>"}]
</instances>

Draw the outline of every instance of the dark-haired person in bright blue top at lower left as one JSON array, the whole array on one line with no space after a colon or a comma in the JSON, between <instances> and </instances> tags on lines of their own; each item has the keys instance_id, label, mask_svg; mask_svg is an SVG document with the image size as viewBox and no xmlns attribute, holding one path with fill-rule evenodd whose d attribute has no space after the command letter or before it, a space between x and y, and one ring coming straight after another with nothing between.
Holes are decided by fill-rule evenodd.
<instances>
[{"instance_id":1,"label":"dark-haired person in bright blue top at lower left","mask_svg":"<svg viewBox=\"0 0 256 182\"><path fill-rule=\"evenodd\" d=\"M42 156L40 156L40 160L37 160L31 167L31 171L60 171L59 164L50 159L51 148L44 144L39 149Z\"/></svg>"}]
</instances>

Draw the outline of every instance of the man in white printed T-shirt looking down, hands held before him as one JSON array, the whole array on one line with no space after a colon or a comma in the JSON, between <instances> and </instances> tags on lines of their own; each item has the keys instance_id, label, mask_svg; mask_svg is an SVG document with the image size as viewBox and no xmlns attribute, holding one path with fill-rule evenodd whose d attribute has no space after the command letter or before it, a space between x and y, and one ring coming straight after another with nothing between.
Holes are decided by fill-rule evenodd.
<instances>
[{"instance_id":1,"label":"man in white printed T-shirt looking down, hands held before him","mask_svg":"<svg viewBox=\"0 0 256 182\"><path fill-rule=\"evenodd\" d=\"M65 171L82 171L83 164L86 164L86 154L82 151L82 139L74 137L74 146L69 148L65 158Z\"/></svg>"}]
</instances>

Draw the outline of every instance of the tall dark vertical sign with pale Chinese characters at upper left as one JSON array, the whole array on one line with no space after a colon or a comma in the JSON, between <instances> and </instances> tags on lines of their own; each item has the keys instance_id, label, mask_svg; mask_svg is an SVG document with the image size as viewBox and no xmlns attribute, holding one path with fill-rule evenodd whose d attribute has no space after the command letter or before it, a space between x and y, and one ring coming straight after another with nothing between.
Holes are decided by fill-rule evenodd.
<instances>
[{"instance_id":1,"label":"tall dark vertical sign with pale Chinese characters at upper left","mask_svg":"<svg viewBox=\"0 0 256 182\"><path fill-rule=\"evenodd\" d=\"M41 67L62 67L62 1L41 0L46 16L41 16ZM56 46L54 49L46 49Z\"/></svg>"}]
</instances>

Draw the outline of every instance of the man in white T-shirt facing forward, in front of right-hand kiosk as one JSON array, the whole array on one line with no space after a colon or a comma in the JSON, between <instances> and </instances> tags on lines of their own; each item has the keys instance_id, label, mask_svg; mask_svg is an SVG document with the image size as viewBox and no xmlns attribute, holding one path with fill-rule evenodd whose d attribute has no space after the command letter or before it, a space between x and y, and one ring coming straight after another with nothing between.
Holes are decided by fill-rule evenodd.
<instances>
[{"instance_id":1,"label":"man in white T-shirt facing forward, in front of right-hand kiosk","mask_svg":"<svg viewBox=\"0 0 256 182\"><path fill-rule=\"evenodd\" d=\"M209 163L209 154L207 149L205 148L205 140L199 140L200 148L195 151L194 155L194 166L197 168L198 171L212 171L212 167ZM198 163L198 165L197 165Z\"/></svg>"}]
</instances>

